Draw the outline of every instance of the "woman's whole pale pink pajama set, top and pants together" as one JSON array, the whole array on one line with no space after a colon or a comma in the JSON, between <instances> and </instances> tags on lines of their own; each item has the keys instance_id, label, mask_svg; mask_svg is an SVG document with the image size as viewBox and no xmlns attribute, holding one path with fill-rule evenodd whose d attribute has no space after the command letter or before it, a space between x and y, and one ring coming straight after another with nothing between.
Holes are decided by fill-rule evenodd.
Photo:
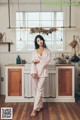
<instances>
[{"instance_id":1,"label":"woman's whole pale pink pajama set, top and pants together","mask_svg":"<svg viewBox=\"0 0 80 120\"><path fill-rule=\"evenodd\" d=\"M32 61L39 60L38 64L32 63L31 74L37 73L38 79L34 79L35 87L35 101L34 110L39 111L43 107L42 96L44 94L44 82L45 77L48 76L47 66L51 60L51 51L48 48L44 48L42 55L37 50L33 51Z\"/></svg>"}]
</instances>

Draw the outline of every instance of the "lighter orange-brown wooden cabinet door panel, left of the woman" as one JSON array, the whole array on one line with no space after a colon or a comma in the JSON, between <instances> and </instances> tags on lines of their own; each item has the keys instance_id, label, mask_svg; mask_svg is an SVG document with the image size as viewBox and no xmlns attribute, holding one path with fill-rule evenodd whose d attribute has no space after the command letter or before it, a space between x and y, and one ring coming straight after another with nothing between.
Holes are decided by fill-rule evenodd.
<instances>
[{"instance_id":1,"label":"lighter orange-brown wooden cabinet door panel, left of the woman","mask_svg":"<svg viewBox=\"0 0 80 120\"><path fill-rule=\"evenodd\" d=\"M8 69L8 96L22 95L22 70Z\"/></svg>"}]
</instances>

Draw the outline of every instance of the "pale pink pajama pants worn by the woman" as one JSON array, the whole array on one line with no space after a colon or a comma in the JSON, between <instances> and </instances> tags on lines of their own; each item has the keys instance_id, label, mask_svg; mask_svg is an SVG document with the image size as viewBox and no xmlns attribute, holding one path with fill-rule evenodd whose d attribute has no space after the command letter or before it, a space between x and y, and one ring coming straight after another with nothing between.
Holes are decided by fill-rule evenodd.
<instances>
[{"instance_id":1,"label":"pale pink pajama pants worn by the woman","mask_svg":"<svg viewBox=\"0 0 80 120\"><path fill-rule=\"evenodd\" d=\"M37 111L39 111L40 108L43 107L42 96L44 94L44 82L45 77L39 77L38 79L34 79L35 100L33 109Z\"/></svg>"}]
</instances>

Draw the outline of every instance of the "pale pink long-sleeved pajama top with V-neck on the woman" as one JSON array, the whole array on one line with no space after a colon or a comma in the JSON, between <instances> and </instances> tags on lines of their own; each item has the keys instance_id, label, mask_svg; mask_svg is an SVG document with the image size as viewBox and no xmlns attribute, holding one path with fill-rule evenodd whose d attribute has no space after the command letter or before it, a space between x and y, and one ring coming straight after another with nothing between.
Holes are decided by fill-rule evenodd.
<instances>
[{"instance_id":1,"label":"pale pink long-sleeved pajama top with V-neck on the woman","mask_svg":"<svg viewBox=\"0 0 80 120\"><path fill-rule=\"evenodd\" d=\"M35 49L32 55L32 61L34 60L39 60L40 62L38 64L31 64L31 74L36 73L38 77L47 77L47 66L51 60L51 51L48 48L44 48L42 55L40 55Z\"/></svg>"}]
</instances>

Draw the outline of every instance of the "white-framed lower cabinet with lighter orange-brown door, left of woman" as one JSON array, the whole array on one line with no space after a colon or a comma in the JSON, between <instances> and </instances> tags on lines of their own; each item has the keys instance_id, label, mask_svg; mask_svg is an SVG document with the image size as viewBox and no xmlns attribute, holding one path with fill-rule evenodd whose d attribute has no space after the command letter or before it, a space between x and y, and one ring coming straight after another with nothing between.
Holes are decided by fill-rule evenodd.
<instances>
[{"instance_id":1,"label":"white-framed lower cabinet with lighter orange-brown door, left of woman","mask_svg":"<svg viewBox=\"0 0 80 120\"><path fill-rule=\"evenodd\" d=\"M5 101L20 101L24 98L24 66L6 65L5 71Z\"/></svg>"}]
</instances>

